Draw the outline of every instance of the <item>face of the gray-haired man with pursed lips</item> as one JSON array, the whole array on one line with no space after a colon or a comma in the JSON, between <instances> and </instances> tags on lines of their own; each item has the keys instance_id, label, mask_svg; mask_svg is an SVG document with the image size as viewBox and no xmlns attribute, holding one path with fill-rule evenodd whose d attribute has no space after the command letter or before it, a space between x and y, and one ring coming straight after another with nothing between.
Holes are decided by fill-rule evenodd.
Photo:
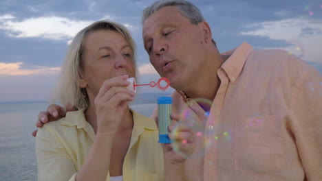
<instances>
[{"instance_id":1,"label":"face of the gray-haired man with pursed lips","mask_svg":"<svg viewBox=\"0 0 322 181\"><path fill-rule=\"evenodd\" d=\"M153 13L144 21L144 48L153 67L177 90L193 86L202 73L205 44L202 23L193 25L174 6Z\"/></svg>"}]
</instances>

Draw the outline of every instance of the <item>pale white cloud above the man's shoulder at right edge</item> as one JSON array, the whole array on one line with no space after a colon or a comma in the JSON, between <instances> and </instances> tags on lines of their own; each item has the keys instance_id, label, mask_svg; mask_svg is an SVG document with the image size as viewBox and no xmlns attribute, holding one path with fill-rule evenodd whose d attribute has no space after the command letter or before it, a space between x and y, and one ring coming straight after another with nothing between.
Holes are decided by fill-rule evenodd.
<instances>
[{"instance_id":1,"label":"pale white cloud above the man's shoulder at right edge","mask_svg":"<svg viewBox=\"0 0 322 181\"><path fill-rule=\"evenodd\" d=\"M283 19L253 23L246 27L253 30L241 32L241 34L285 40L290 46L279 47L280 49L294 53L306 61L322 62L322 21L304 18Z\"/></svg>"}]
</instances>

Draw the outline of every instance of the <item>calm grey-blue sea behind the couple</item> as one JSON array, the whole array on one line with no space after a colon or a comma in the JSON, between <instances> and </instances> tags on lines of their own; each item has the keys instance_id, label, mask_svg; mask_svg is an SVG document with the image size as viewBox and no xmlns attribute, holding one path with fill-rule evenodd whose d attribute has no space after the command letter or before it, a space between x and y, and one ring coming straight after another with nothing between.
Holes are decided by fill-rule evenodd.
<instances>
[{"instance_id":1,"label":"calm grey-blue sea behind the couple","mask_svg":"<svg viewBox=\"0 0 322 181\"><path fill-rule=\"evenodd\" d=\"M130 107L151 115L155 99L139 99ZM32 132L43 102L0 103L0 181L37 180L35 138Z\"/></svg>"}]
</instances>

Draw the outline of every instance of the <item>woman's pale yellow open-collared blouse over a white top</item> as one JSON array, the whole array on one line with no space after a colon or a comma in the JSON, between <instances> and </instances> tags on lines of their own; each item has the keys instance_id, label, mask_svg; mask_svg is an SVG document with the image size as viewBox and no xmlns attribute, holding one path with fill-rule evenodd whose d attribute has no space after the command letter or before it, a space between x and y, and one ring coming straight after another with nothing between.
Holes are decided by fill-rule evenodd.
<instances>
[{"instance_id":1,"label":"woman's pale yellow open-collared blouse over a white top","mask_svg":"<svg viewBox=\"0 0 322 181\"><path fill-rule=\"evenodd\" d=\"M134 125L123 163L123 180L164 180L158 128L153 120L132 112ZM94 130L81 110L43 125L36 136L38 180L75 180L94 138Z\"/></svg>"}]
</instances>

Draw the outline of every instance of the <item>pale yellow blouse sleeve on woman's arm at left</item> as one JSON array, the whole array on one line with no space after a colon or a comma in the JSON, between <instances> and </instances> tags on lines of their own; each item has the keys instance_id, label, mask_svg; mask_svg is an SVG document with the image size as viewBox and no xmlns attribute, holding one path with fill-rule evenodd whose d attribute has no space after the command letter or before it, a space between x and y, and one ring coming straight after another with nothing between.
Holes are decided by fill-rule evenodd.
<instances>
[{"instance_id":1,"label":"pale yellow blouse sleeve on woman's arm at left","mask_svg":"<svg viewBox=\"0 0 322 181\"><path fill-rule=\"evenodd\" d=\"M54 130L39 129L36 135L38 180L76 180L76 169Z\"/></svg>"}]
</instances>

